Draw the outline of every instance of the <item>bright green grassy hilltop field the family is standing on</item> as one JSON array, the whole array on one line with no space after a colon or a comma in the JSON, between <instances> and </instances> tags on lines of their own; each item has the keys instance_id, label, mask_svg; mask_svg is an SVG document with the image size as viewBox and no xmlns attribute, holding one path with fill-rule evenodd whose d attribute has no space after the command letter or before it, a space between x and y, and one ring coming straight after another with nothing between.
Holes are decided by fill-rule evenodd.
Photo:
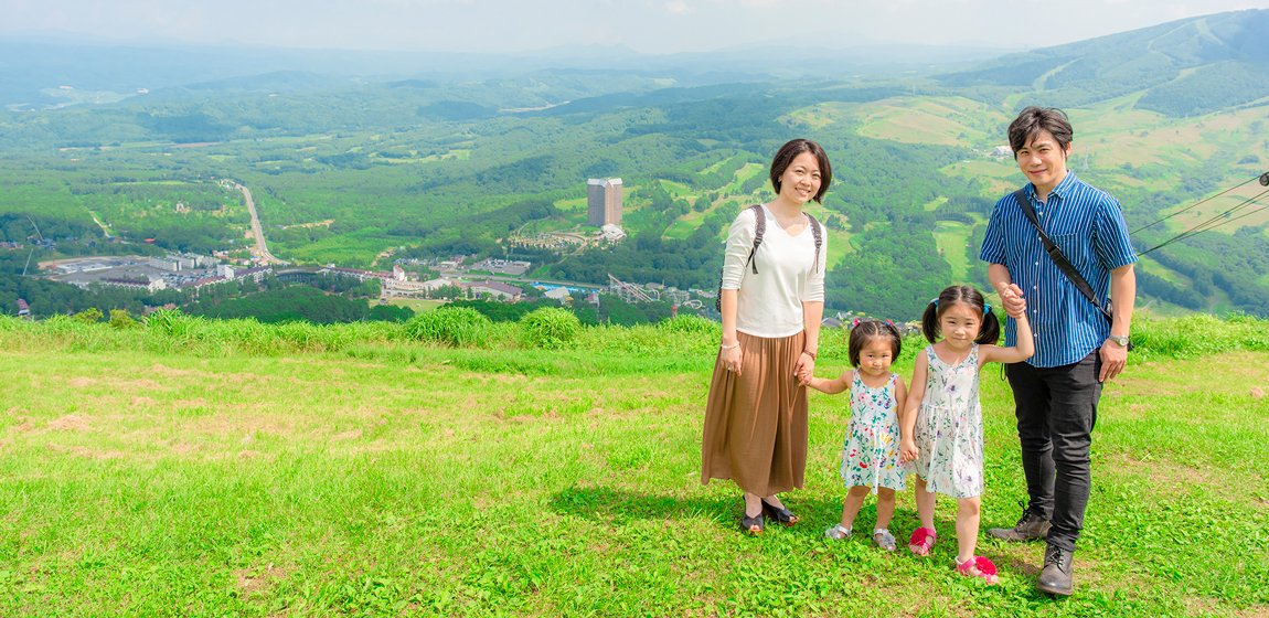
<instances>
[{"instance_id":1,"label":"bright green grassy hilltop field the family is standing on","mask_svg":"<svg viewBox=\"0 0 1269 618\"><path fill-rule=\"evenodd\" d=\"M1067 600L1034 591L1037 544L981 541L999 586L956 575L950 500L930 558L824 539L844 397L812 397L807 483L786 496L803 523L741 536L735 486L698 480L716 331L588 329L548 352L395 327L228 322L249 332L222 345L198 320L0 319L0 615L1269 613L1264 321L1134 329ZM844 358L826 332L817 373ZM996 368L982 387L982 523L1010 525L1010 398ZM915 523L905 494L896 534Z\"/></svg>"}]
</instances>

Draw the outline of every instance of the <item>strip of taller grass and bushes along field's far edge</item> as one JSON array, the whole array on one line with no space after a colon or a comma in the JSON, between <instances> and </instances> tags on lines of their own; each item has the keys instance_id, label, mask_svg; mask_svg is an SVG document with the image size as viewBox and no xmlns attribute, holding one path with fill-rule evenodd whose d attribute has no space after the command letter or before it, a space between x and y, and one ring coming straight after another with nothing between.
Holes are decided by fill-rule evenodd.
<instances>
[{"instance_id":1,"label":"strip of taller grass and bushes along field's far edge","mask_svg":"<svg viewBox=\"0 0 1269 618\"><path fill-rule=\"evenodd\" d=\"M530 317L532 316L532 317ZM440 345L472 350L575 350L643 354L711 355L721 336L718 322L678 316L656 325L580 326L562 313L538 311L520 322L490 322L466 308L439 308L409 322L261 324L255 320L209 320L179 311L157 311L143 327L85 322L69 316L42 321L0 316L0 341L13 349L146 350L225 357L247 354L354 353L392 348ZM563 316L567 317L567 316ZM846 358L845 329L821 334L820 364ZM1222 352L1269 350L1269 320L1246 315L1225 319L1193 315L1136 320L1132 329L1134 360L1187 359ZM911 359L924 346L919 335L904 341L900 360Z\"/></svg>"}]
</instances>

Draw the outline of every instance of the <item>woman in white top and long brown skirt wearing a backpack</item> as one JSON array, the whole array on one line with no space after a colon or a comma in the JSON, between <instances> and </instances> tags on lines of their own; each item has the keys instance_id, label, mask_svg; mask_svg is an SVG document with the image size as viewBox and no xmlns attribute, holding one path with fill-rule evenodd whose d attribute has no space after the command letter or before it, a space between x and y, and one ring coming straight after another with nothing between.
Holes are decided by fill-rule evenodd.
<instances>
[{"instance_id":1,"label":"woman in white top and long brown skirt wearing a backpack","mask_svg":"<svg viewBox=\"0 0 1269 618\"><path fill-rule=\"evenodd\" d=\"M727 232L721 311L702 445L700 482L731 478L745 494L741 529L764 529L764 511L784 525L798 518L778 494L802 487L807 398L824 316L826 231L802 212L832 180L819 143L793 140L772 160L775 199L746 208ZM754 250L758 217L765 218ZM753 255L750 255L753 253Z\"/></svg>"}]
</instances>

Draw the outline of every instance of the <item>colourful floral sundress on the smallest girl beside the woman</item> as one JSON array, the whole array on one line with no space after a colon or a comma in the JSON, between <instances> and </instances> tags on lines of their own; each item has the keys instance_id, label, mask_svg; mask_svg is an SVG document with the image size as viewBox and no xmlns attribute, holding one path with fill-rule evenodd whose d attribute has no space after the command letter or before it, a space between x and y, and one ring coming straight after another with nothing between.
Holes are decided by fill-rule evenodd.
<instances>
[{"instance_id":1,"label":"colourful floral sundress on the smallest girl beside the woman","mask_svg":"<svg viewBox=\"0 0 1269 618\"><path fill-rule=\"evenodd\" d=\"M898 410L895 383L898 376L877 388L864 385L859 371L850 381L850 424L841 447L841 480L846 487L869 486L902 491L907 471L898 457Z\"/></svg>"}]
</instances>

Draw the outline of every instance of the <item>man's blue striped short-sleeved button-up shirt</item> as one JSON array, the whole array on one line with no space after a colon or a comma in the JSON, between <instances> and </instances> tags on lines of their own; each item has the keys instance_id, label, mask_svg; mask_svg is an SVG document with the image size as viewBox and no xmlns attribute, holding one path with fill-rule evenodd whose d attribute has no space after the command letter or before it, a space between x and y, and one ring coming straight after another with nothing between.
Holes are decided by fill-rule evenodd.
<instances>
[{"instance_id":1,"label":"man's blue striped short-sleeved button-up shirt","mask_svg":"<svg viewBox=\"0 0 1269 618\"><path fill-rule=\"evenodd\" d=\"M1137 261L1119 202L1076 179L1074 173L1067 173L1049 192L1046 203L1036 201L1030 183L1024 190L1044 233L1062 249L1105 306L1110 270ZM996 202L978 259L1004 264L1023 289L1027 317L1036 335L1036 355L1028 360L1032 365L1076 363L1101 346L1110 334L1105 316L1049 259L1013 194ZM1010 319L1005 321L1005 345L1015 341L1016 327Z\"/></svg>"}]
</instances>

